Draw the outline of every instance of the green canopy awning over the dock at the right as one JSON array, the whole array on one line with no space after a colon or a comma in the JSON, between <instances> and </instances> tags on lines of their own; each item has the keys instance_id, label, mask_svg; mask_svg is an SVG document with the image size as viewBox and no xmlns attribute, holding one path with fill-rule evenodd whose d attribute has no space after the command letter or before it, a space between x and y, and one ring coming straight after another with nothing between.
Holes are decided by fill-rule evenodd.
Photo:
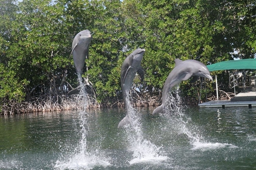
<instances>
[{"instance_id":1,"label":"green canopy awning over the dock at the right","mask_svg":"<svg viewBox=\"0 0 256 170\"><path fill-rule=\"evenodd\" d=\"M256 69L256 59L237 59L207 65L209 71Z\"/></svg>"}]
</instances>

